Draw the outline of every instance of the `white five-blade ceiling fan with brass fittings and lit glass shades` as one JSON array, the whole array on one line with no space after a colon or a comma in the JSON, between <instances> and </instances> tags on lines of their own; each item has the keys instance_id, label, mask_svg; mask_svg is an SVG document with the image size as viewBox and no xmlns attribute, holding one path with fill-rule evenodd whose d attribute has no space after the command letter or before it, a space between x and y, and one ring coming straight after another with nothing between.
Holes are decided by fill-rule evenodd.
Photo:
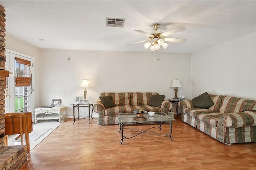
<instances>
[{"instance_id":1,"label":"white five-blade ceiling fan with brass fittings and lit glass shades","mask_svg":"<svg viewBox=\"0 0 256 170\"><path fill-rule=\"evenodd\" d=\"M166 42L174 42L174 43L184 43L184 42L186 42L185 39L168 38L167 37L167 36L170 36L174 33L186 30L186 28L183 27L183 26L178 26L178 27L173 28L172 30L166 31L164 33L162 31L158 31L159 24L153 24L152 26L153 26L154 31L155 31L153 34L148 34L148 33L144 32L142 30L134 30L136 32L145 34L146 36L149 37L149 39L148 40L142 40L142 41L139 41L139 42L135 42L135 43L132 43L130 45L133 45L133 44L136 44L136 43L147 42L147 43L144 44L144 47L146 49L148 49L150 47L150 51L155 51L155 50L160 49L161 46L164 49L166 49L168 47L168 43L166 43Z\"/></svg>"}]
</instances>

